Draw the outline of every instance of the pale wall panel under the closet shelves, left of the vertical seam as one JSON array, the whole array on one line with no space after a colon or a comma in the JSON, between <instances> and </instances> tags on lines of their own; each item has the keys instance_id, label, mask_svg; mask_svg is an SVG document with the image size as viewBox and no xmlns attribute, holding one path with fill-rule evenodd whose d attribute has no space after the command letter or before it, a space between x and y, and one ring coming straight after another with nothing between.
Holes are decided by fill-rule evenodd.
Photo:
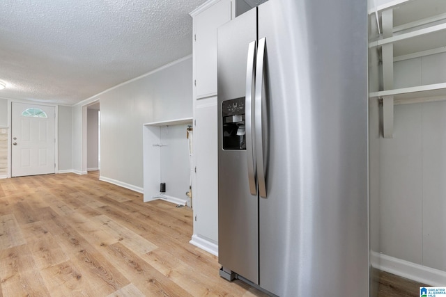
<instances>
[{"instance_id":1,"label":"pale wall panel under the closet shelves, left of the vertical seam","mask_svg":"<svg viewBox=\"0 0 446 297\"><path fill-rule=\"evenodd\" d=\"M380 141L380 251L422 264L421 104L394 106L394 138Z\"/></svg>"}]
</instances>

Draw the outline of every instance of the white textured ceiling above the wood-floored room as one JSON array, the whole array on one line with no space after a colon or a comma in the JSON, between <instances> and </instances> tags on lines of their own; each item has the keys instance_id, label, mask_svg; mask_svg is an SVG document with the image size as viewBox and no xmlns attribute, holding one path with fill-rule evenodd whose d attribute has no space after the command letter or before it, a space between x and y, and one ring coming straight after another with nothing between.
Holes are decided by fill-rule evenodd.
<instances>
[{"instance_id":1,"label":"white textured ceiling above the wood-floored room","mask_svg":"<svg viewBox=\"0 0 446 297\"><path fill-rule=\"evenodd\" d=\"M75 104L192 54L206 0L1 0L0 97Z\"/></svg>"}]
</instances>

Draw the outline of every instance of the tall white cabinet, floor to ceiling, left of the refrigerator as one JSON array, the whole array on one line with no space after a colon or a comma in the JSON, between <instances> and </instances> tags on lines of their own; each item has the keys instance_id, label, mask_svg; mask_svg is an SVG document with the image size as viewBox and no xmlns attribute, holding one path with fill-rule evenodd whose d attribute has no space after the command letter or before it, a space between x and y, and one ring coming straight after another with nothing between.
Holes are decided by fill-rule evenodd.
<instances>
[{"instance_id":1,"label":"tall white cabinet, floor to ceiling, left of the refrigerator","mask_svg":"<svg viewBox=\"0 0 446 297\"><path fill-rule=\"evenodd\" d=\"M243 0L207 1L194 10L194 234L190 241L218 253L217 28L250 7Z\"/></svg>"}]
</instances>

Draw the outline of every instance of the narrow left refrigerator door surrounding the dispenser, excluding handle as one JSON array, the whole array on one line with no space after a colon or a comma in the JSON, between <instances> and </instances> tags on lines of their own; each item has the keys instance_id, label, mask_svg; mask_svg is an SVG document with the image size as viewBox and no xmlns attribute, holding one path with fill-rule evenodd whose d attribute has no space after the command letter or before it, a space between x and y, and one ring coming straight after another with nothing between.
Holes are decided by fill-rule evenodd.
<instances>
[{"instance_id":1,"label":"narrow left refrigerator door surrounding the dispenser, excluding handle","mask_svg":"<svg viewBox=\"0 0 446 297\"><path fill-rule=\"evenodd\" d=\"M245 99L248 47L255 40L256 10L217 31L218 255L224 268L258 283L259 201L249 191L247 152L222 149L222 102Z\"/></svg>"}]
</instances>

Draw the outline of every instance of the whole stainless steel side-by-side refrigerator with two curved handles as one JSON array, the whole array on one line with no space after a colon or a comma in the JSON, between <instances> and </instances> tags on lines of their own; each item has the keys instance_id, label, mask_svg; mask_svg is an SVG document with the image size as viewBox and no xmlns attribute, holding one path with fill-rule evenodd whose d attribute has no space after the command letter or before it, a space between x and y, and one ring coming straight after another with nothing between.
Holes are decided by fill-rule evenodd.
<instances>
[{"instance_id":1,"label":"whole stainless steel side-by-side refrigerator with two curved handles","mask_svg":"<svg viewBox=\"0 0 446 297\"><path fill-rule=\"evenodd\" d=\"M366 6L270 0L217 30L224 278L368 296Z\"/></svg>"}]
</instances>

